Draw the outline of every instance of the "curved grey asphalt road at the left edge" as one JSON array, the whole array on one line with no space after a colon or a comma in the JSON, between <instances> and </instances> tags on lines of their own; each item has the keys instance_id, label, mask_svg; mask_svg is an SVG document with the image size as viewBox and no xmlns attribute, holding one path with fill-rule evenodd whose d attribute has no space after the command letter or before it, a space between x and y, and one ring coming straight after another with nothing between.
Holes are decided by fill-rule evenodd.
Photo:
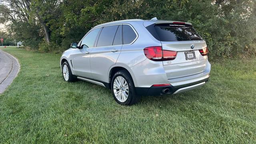
<instances>
[{"instance_id":1,"label":"curved grey asphalt road at the left edge","mask_svg":"<svg viewBox=\"0 0 256 144\"><path fill-rule=\"evenodd\" d=\"M12 55L0 50L0 94L12 83L20 70L20 64Z\"/></svg>"}]
</instances>

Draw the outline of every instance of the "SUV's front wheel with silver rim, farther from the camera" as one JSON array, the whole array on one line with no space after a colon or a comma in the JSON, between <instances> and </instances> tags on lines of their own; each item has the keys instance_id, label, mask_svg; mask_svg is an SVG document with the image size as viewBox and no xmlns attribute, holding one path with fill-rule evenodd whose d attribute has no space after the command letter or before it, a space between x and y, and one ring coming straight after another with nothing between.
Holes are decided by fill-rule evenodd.
<instances>
[{"instance_id":1,"label":"SUV's front wheel with silver rim, farther from the camera","mask_svg":"<svg viewBox=\"0 0 256 144\"><path fill-rule=\"evenodd\" d=\"M72 74L70 66L67 61L63 62L62 64L62 76L66 82L76 81L76 76Z\"/></svg>"}]
</instances>

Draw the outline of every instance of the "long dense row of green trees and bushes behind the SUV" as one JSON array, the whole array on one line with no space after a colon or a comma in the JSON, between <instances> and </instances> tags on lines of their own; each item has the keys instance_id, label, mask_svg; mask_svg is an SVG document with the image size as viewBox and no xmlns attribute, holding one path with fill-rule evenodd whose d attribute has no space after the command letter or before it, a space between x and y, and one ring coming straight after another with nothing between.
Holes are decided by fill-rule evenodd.
<instances>
[{"instance_id":1,"label":"long dense row of green trees and bushes behind the SUV","mask_svg":"<svg viewBox=\"0 0 256 144\"><path fill-rule=\"evenodd\" d=\"M30 47L63 51L97 24L140 18L191 22L210 58L256 54L255 0L2 0L2 23ZM20 30L17 32L17 30ZM38 45L40 43L40 45ZM56 49L55 48L55 49Z\"/></svg>"}]
</instances>

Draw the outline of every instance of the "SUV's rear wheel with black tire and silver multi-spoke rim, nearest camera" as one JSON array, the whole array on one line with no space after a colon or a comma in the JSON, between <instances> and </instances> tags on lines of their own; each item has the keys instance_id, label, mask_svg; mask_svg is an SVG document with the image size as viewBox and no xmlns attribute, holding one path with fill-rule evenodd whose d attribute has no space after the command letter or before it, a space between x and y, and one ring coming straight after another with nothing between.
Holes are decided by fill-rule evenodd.
<instances>
[{"instance_id":1,"label":"SUV's rear wheel with black tire and silver multi-spoke rim, nearest camera","mask_svg":"<svg viewBox=\"0 0 256 144\"><path fill-rule=\"evenodd\" d=\"M126 70L120 70L114 74L111 80L111 90L118 104L130 106L140 100L140 96L136 94L132 76Z\"/></svg>"}]
</instances>

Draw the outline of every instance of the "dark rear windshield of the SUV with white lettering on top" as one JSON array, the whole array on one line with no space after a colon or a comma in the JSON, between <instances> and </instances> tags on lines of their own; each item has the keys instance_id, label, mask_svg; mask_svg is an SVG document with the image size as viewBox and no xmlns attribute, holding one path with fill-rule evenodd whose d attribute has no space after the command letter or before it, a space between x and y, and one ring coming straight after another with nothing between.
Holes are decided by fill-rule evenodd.
<instances>
[{"instance_id":1,"label":"dark rear windshield of the SUV with white lettering on top","mask_svg":"<svg viewBox=\"0 0 256 144\"><path fill-rule=\"evenodd\" d=\"M146 29L157 40L163 42L202 40L194 28L186 24L152 24Z\"/></svg>"}]
</instances>

